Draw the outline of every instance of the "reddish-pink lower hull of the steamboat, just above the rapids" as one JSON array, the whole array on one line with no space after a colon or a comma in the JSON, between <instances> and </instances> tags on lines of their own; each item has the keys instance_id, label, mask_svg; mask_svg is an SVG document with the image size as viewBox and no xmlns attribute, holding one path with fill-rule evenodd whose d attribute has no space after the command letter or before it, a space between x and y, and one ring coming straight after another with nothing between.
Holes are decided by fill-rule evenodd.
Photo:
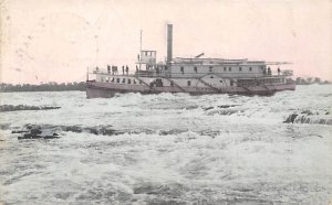
<instances>
[{"instance_id":1,"label":"reddish-pink lower hull of the steamboat, just above the rapids","mask_svg":"<svg viewBox=\"0 0 332 205\"><path fill-rule=\"evenodd\" d=\"M261 95L270 96L277 91L282 90L294 90L295 84L277 84L277 85L259 85L251 87L237 87L228 86L222 88L211 87L176 87L176 86L164 86L153 87L146 85L114 85L102 82L86 83L86 97L87 98L111 98L115 94L125 93L141 93L141 94L160 94L160 93L188 93L190 95L206 95L206 94L230 94L230 95Z\"/></svg>"}]
</instances>

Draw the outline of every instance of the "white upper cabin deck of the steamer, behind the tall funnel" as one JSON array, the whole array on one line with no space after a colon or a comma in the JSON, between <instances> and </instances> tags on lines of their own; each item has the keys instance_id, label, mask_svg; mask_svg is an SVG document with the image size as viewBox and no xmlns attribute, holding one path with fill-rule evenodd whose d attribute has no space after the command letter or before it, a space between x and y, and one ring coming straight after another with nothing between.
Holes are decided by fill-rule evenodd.
<instances>
[{"instance_id":1,"label":"white upper cabin deck of the steamer, behind the tall funnel","mask_svg":"<svg viewBox=\"0 0 332 205\"><path fill-rule=\"evenodd\" d=\"M209 74L217 74L227 78L257 78L272 73L282 75L279 65L286 62L264 62L226 58L174 58L168 64L145 64L136 75L146 77L197 78ZM272 68L269 65L278 65ZM278 73L279 71L279 73ZM286 73L284 73L286 75Z\"/></svg>"}]
</instances>

